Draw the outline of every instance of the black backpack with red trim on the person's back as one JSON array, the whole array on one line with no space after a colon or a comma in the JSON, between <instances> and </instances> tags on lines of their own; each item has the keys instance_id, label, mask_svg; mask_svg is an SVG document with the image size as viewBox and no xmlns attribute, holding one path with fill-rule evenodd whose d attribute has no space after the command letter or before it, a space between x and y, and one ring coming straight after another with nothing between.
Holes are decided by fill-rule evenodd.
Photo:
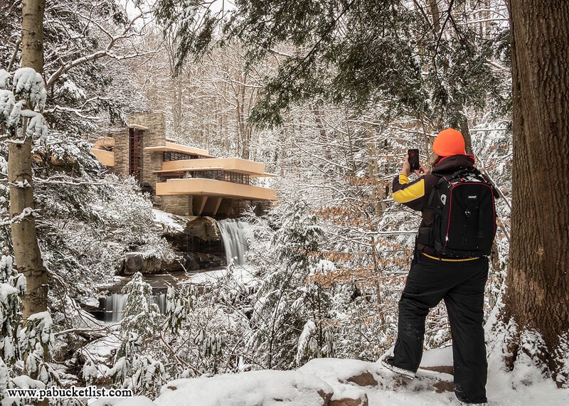
<instances>
[{"instance_id":1,"label":"black backpack with red trim on the person's back","mask_svg":"<svg viewBox=\"0 0 569 406\"><path fill-rule=\"evenodd\" d=\"M498 193L476 168L438 175L428 207L434 209L432 227L419 230L420 242L432 245L445 257L490 255L496 235Z\"/></svg>"}]
</instances>

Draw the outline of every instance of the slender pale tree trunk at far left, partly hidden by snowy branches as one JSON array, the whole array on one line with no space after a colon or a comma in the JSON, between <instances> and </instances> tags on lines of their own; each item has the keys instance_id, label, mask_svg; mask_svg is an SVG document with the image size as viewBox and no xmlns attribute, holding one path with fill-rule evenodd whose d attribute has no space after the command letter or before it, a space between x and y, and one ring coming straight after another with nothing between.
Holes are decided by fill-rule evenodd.
<instances>
[{"instance_id":1,"label":"slender pale tree trunk at far left, partly hidden by snowy branches","mask_svg":"<svg viewBox=\"0 0 569 406\"><path fill-rule=\"evenodd\" d=\"M45 0L24 0L22 4L22 63L23 68L43 71L43 11ZM24 125L25 127L25 125ZM24 128L24 134L26 129ZM31 169L31 139L23 143L10 142L8 156L10 184L10 216L20 215L33 205ZM28 187L21 187L25 184ZM20 185L20 186L16 186ZM36 237L36 221L28 215L11 225L12 244L16 268L26 276L27 287L23 295L23 319L47 309L47 272L43 266Z\"/></svg>"}]
</instances>

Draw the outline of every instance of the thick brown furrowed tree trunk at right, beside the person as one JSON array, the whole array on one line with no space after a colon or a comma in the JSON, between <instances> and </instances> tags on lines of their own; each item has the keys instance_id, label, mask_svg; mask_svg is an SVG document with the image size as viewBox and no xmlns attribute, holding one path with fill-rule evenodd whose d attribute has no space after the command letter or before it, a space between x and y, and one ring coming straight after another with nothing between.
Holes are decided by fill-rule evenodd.
<instances>
[{"instance_id":1,"label":"thick brown furrowed tree trunk at right, beside the person","mask_svg":"<svg viewBox=\"0 0 569 406\"><path fill-rule=\"evenodd\" d=\"M553 359L569 330L569 2L510 0L514 164L506 319ZM556 379L558 383L559 379Z\"/></svg>"}]
</instances>

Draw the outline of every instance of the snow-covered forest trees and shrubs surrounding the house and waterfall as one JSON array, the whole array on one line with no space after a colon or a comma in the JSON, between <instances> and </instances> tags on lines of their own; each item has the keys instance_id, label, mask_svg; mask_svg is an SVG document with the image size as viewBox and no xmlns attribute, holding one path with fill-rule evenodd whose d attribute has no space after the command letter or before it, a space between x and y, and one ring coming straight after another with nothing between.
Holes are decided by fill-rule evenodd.
<instances>
[{"instance_id":1,"label":"snow-covered forest trees and shrubs surrounding the house and waterfall","mask_svg":"<svg viewBox=\"0 0 569 406\"><path fill-rule=\"evenodd\" d=\"M0 2L0 88L9 92L18 84L25 3ZM430 161L433 137L450 126L501 194L485 312L506 316L492 345L508 348L512 369L524 343L534 343L543 351L525 355L567 385L567 326L550 331L552 344L535 326L522 333L507 316L514 306L503 306L516 127L504 1L45 7L31 217L49 311L22 324L23 279L12 266L8 213L8 151L21 134L3 93L2 388L26 373L44 383L106 383L156 395L169 379L203 373L289 369L323 356L376 360L395 338L420 220L391 201L390 183L408 148ZM29 102L24 91L15 93ZM280 201L263 218L248 218L251 269L230 266L205 293L172 289L164 315L148 305L149 286L137 276L127 285L127 317L110 331L93 324L81 301L96 297L133 247L164 260L173 253L149 196L132 179L107 173L89 149L130 113L155 110L181 143L265 163L280 174L273 185ZM112 359L93 356L89 346L109 337ZM440 306L427 320L425 346L449 341Z\"/></svg>"}]
</instances>

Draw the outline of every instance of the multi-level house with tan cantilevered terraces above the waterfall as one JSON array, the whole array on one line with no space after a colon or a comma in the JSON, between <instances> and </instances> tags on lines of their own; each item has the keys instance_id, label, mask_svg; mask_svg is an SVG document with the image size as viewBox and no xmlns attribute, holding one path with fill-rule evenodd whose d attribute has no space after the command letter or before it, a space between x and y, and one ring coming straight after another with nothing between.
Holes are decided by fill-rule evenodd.
<instances>
[{"instance_id":1,"label":"multi-level house with tan cantilevered terraces above the waterfall","mask_svg":"<svg viewBox=\"0 0 569 406\"><path fill-rule=\"evenodd\" d=\"M97 139L91 149L119 176L133 176L155 205L178 215L235 217L247 205L275 201L275 189L254 186L252 178L275 176L265 165L217 158L205 149L166 137L164 114L139 113L126 128Z\"/></svg>"}]
</instances>

